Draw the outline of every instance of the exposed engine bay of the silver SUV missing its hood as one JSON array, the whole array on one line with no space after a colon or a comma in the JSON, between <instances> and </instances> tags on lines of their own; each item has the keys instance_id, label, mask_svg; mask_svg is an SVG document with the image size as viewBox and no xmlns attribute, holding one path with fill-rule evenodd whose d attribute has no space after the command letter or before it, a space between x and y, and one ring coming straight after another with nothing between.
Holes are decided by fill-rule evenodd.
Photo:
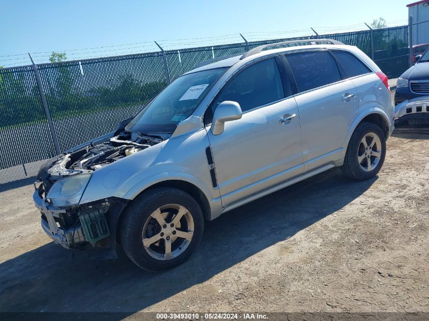
<instances>
[{"instance_id":1,"label":"exposed engine bay of the silver SUV missing its hood","mask_svg":"<svg viewBox=\"0 0 429 321\"><path fill-rule=\"evenodd\" d=\"M138 153L169 137L164 135L142 135L137 132L121 132L101 144L92 142L82 148L59 155L49 160L39 171L37 180L43 182L45 191L63 177L90 173L121 158Z\"/></svg>"}]
</instances>

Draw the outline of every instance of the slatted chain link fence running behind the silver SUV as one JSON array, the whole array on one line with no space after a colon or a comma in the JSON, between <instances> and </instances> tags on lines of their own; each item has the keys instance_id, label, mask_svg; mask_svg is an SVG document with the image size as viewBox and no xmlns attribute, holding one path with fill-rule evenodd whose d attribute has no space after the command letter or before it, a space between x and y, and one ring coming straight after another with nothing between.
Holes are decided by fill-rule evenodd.
<instances>
[{"instance_id":1,"label":"slatted chain link fence running behind the silver SUV","mask_svg":"<svg viewBox=\"0 0 429 321\"><path fill-rule=\"evenodd\" d=\"M0 69L0 185L34 176L43 160L114 130L203 61L315 38L357 46L389 78L409 66L408 26L399 26Z\"/></svg>"}]
</instances>

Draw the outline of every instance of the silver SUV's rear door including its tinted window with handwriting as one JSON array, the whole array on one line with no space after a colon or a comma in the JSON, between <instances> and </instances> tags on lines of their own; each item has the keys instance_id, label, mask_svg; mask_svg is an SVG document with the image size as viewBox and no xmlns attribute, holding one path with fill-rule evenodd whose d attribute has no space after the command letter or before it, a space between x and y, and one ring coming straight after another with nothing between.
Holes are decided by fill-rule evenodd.
<instances>
[{"instance_id":1,"label":"silver SUV's rear door including its tinted window with handwriting","mask_svg":"<svg viewBox=\"0 0 429 321\"><path fill-rule=\"evenodd\" d=\"M285 55L295 81L305 170L341 158L357 115L356 88L327 50Z\"/></svg>"}]
</instances>

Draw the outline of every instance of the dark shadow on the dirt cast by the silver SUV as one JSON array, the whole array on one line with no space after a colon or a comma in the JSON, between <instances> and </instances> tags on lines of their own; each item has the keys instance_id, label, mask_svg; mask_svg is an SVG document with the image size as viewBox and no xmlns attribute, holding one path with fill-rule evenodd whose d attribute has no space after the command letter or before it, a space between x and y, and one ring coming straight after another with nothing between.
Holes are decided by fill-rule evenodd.
<instances>
[{"instance_id":1,"label":"dark shadow on the dirt cast by the silver SUV","mask_svg":"<svg viewBox=\"0 0 429 321\"><path fill-rule=\"evenodd\" d=\"M202 244L189 261L158 274L127 259L94 263L83 253L72 258L48 243L0 264L0 312L132 314L292 237L353 201L376 180L351 181L333 169L225 213L207 222Z\"/></svg>"}]
</instances>

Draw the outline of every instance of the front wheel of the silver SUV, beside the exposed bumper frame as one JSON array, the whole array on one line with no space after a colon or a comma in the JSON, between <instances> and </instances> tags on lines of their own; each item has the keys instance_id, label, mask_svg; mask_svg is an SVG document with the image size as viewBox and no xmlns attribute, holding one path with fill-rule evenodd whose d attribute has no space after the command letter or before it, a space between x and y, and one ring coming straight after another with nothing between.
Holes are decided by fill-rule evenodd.
<instances>
[{"instance_id":1,"label":"front wheel of the silver SUV, beside the exposed bumper frame","mask_svg":"<svg viewBox=\"0 0 429 321\"><path fill-rule=\"evenodd\" d=\"M176 188L155 188L127 207L120 239L131 261L159 272L186 261L200 244L203 230L203 212L192 196Z\"/></svg>"}]
</instances>

